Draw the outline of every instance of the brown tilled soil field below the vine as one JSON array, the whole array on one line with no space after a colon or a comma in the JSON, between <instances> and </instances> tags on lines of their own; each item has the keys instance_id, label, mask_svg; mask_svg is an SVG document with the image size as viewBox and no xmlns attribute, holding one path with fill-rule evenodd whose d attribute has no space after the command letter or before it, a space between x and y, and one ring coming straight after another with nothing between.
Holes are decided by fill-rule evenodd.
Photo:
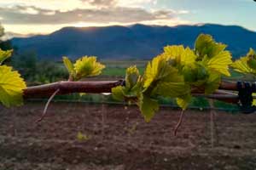
<instances>
[{"instance_id":1,"label":"brown tilled soil field below the vine","mask_svg":"<svg viewBox=\"0 0 256 170\"><path fill-rule=\"evenodd\" d=\"M0 170L256 169L256 115L161 108L144 122L137 107L43 103L0 108ZM80 141L78 133L87 139Z\"/></svg>"}]
</instances>

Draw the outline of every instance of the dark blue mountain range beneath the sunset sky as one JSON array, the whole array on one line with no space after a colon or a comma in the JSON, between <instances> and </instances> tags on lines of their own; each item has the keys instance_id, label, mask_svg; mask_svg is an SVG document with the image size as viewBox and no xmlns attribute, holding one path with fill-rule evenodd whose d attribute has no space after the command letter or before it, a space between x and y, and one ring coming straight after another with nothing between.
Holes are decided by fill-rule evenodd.
<instances>
[{"instance_id":1,"label":"dark blue mountain range beneath the sunset sky","mask_svg":"<svg viewBox=\"0 0 256 170\"><path fill-rule=\"evenodd\" d=\"M256 48L256 32L241 26L105 26L64 27L49 35L13 38L20 51L34 50L40 59L77 58L96 55L100 59L149 59L160 54L166 45L193 47L200 33L211 34L218 42L229 45L237 57L248 48Z\"/></svg>"}]
</instances>

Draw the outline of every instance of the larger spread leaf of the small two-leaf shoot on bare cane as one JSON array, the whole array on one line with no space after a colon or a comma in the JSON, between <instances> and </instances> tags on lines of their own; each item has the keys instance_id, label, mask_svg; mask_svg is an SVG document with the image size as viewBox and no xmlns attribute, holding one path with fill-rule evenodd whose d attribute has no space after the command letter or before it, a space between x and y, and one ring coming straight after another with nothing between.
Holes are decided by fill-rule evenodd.
<instances>
[{"instance_id":1,"label":"larger spread leaf of the small two-leaf shoot on bare cane","mask_svg":"<svg viewBox=\"0 0 256 170\"><path fill-rule=\"evenodd\" d=\"M74 70L76 71L75 78L81 79L83 77L94 77L102 73L102 69L105 65L96 61L94 56L84 56L78 59L74 64Z\"/></svg>"}]
</instances>

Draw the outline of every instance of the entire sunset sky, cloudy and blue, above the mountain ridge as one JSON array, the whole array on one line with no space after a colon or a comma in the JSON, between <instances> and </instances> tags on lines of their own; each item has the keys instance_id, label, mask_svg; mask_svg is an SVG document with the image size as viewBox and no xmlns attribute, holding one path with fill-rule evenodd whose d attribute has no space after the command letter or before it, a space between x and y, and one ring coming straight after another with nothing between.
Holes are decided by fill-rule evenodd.
<instances>
[{"instance_id":1,"label":"entire sunset sky, cloudy and blue, above the mountain ridge","mask_svg":"<svg viewBox=\"0 0 256 170\"><path fill-rule=\"evenodd\" d=\"M64 26L214 23L256 31L253 0L0 0L6 32L47 34Z\"/></svg>"}]
</instances>

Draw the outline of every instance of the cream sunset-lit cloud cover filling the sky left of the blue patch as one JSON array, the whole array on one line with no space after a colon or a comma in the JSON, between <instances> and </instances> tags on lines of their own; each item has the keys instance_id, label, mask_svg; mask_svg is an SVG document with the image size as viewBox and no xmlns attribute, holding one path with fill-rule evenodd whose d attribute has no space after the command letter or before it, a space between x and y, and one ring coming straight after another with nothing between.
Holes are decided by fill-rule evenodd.
<instances>
[{"instance_id":1,"label":"cream sunset-lit cloud cover filling the sky left of the blue patch","mask_svg":"<svg viewBox=\"0 0 256 170\"><path fill-rule=\"evenodd\" d=\"M189 23L179 19L189 11L155 9L156 3L157 0L0 0L0 22L7 31L23 34L49 33L63 26Z\"/></svg>"}]
</instances>

